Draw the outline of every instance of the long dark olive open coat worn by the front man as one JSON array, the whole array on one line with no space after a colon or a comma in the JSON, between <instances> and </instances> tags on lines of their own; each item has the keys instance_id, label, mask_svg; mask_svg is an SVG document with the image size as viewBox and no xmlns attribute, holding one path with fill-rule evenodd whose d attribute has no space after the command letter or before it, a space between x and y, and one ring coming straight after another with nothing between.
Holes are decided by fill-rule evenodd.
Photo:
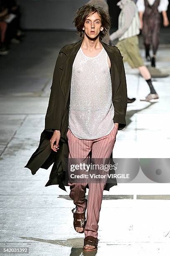
<instances>
[{"instance_id":1,"label":"long dark olive open coat worn by the front man","mask_svg":"<svg viewBox=\"0 0 170 256\"><path fill-rule=\"evenodd\" d=\"M68 186L67 159L69 148L66 134L68 131L72 64L77 51L80 49L82 40L74 44L67 44L58 54L45 116L45 129L41 133L38 148L32 154L26 166L24 166L29 168L32 174L35 174L39 168L48 169L53 164L49 181L45 186L58 184L65 191L65 186ZM122 130L126 125L125 115L127 108L127 87L122 56L116 46L110 46L102 41L100 42L107 51L111 62L112 102L115 109L113 120L114 123L119 123L118 130ZM60 130L61 133L59 141L60 149L57 152L52 151L50 146L50 139L54 130ZM110 161L111 164L114 164L112 155ZM114 169L109 173L114 174ZM109 179L104 190L109 191L110 187L114 185L117 185L116 179Z\"/></svg>"}]
</instances>

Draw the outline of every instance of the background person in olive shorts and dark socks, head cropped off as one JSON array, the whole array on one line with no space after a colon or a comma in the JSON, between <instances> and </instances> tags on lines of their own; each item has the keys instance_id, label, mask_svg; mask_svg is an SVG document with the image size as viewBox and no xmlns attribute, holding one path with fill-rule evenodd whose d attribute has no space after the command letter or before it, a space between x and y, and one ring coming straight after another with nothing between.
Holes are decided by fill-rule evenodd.
<instances>
[{"instance_id":1,"label":"background person in olive shorts and dark socks, head cropped off","mask_svg":"<svg viewBox=\"0 0 170 256\"><path fill-rule=\"evenodd\" d=\"M158 99L159 96L153 87L151 75L143 63L139 51L138 34L140 33L140 19L138 9L133 0L120 0L117 5L121 12L119 15L118 30L110 35L113 41L119 38L116 46L120 49L123 61L127 61L132 69L138 68L150 88L150 93L143 99L145 101Z\"/></svg>"}]
</instances>

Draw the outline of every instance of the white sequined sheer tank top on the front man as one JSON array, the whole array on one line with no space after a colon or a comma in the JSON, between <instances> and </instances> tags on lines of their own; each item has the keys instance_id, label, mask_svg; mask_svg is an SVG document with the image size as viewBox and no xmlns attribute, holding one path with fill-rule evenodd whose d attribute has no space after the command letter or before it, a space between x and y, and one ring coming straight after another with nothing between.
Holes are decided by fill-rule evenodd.
<instances>
[{"instance_id":1,"label":"white sequined sheer tank top on the front man","mask_svg":"<svg viewBox=\"0 0 170 256\"><path fill-rule=\"evenodd\" d=\"M72 66L68 128L79 139L97 139L112 131L113 117L107 52L87 57L80 47Z\"/></svg>"}]
</instances>

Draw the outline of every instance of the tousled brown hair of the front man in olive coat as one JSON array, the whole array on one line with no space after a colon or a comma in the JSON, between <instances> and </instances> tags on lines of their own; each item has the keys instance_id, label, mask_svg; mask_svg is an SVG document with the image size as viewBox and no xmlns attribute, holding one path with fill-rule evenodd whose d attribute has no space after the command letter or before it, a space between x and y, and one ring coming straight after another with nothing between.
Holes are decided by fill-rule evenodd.
<instances>
[{"instance_id":1,"label":"tousled brown hair of the front man in olive coat","mask_svg":"<svg viewBox=\"0 0 170 256\"><path fill-rule=\"evenodd\" d=\"M99 38L100 40L102 40L104 36L107 36L111 26L109 13L100 6L97 6L95 4L86 4L77 10L72 21L72 23L75 24L75 27L77 28L77 34L80 34L80 37L84 37L84 31L82 30L82 27L85 24L85 19L88 15L96 12L101 18L101 23L103 27L103 31L100 31Z\"/></svg>"}]
</instances>

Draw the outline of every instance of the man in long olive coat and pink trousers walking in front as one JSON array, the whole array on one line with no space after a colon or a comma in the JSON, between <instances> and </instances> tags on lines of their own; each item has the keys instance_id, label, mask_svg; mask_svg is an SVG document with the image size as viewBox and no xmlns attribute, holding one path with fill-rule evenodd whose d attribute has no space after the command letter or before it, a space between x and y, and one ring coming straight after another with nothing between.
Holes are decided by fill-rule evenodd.
<instances>
[{"instance_id":1,"label":"man in long olive coat and pink trousers walking in front","mask_svg":"<svg viewBox=\"0 0 170 256\"><path fill-rule=\"evenodd\" d=\"M107 183L107 179L71 182L69 177L66 184L66 159L84 159L87 163L91 152L91 159L112 162L117 130L126 125L127 87L120 51L102 42L110 28L109 14L95 5L84 5L73 21L81 40L59 52L45 130L25 167L35 174L40 167L47 169L54 162L46 186L59 184L62 189L64 185L70 186L70 197L76 205L72 209L74 228L78 233L85 232L83 250L95 251L102 193L117 182L116 179L112 183ZM89 188L88 201L86 188Z\"/></svg>"}]
</instances>

